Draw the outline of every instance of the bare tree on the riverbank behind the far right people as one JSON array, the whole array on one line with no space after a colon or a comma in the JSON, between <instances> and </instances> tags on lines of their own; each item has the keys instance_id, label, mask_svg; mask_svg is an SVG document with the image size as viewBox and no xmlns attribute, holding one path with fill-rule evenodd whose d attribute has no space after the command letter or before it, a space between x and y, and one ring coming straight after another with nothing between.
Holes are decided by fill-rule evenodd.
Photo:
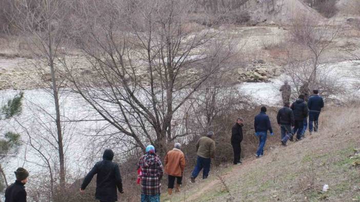
<instances>
[{"instance_id":1,"label":"bare tree on the riverbank behind the far right people","mask_svg":"<svg viewBox=\"0 0 360 202\"><path fill-rule=\"evenodd\" d=\"M326 91L329 94L335 93L337 85L327 85L330 82L330 70L322 63L324 61L321 62L321 56L331 49L337 29L333 28L329 21L300 14L293 19L289 33L291 45L284 61L284 71L290 75L297 85L296 88L299 89L302 85L313 88L327 86Z\"/></svg>"}]
</instances>

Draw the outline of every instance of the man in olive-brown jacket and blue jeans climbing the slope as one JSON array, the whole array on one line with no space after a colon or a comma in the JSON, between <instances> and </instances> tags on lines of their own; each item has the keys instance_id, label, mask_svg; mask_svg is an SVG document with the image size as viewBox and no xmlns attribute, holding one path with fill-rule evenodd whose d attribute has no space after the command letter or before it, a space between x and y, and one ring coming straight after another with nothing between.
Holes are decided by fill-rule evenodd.
<instances>
[{"instance_id":1,"label":"man in olive-brown jacket and blue jeans climbing the slope","mask_svg":"<svg viewBox=\"0 0 360 202\"><path fill-rule=\"evenodd\" d=\"M203 170L203 179L207 178L210 172L211 158L215 154L215 141L212 140L213 131L209 131L205 137L200 138L196 143L196 166L191 173L191 182L195 183L195 178Z\"/></svg>"}]
</instances>

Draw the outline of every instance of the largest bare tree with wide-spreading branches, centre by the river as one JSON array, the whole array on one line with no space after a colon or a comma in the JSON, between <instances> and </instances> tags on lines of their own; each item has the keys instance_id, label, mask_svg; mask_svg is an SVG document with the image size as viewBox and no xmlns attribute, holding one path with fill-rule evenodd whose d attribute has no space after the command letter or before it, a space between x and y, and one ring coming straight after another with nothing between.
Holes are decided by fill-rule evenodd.
<instances>
[{"instance_id":1,"label":"largest bare tree with wide-spreading branches, centre by the river","mask_svg":"<svg viewBox=\"0 0 360 202\"><path fill-rule=\"evenodd\" d=\"M232 56L229 40L214 30L187 27L191 1L104 1L84 4L75 32L90 75L68 67L73 90L135 147L164 145L172 120L211 75ZM107 12L102 12L106 10ZM218 40L217 38L220 38ZM206 68L205 68L206 67Z\"/></svg>"}]
</instances>

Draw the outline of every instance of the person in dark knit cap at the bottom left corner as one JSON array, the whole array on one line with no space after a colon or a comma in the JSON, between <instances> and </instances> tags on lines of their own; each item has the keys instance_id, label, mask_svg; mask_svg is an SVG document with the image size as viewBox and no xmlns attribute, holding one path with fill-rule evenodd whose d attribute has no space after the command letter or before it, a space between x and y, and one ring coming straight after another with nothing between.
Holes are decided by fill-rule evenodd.
<instances>
[{"instance_id":1,"label":"person in dark knit cap at the bottom left corner","mask_svg":"<svg viewBox=\"0 0 360 202\"><path fill-rule=\"evenodd\" d=\"M26 202L25 184L28 182L29 172L24 168L15 171L16 181L5 191L5 202Z\"/></svg>"}]
</instances>

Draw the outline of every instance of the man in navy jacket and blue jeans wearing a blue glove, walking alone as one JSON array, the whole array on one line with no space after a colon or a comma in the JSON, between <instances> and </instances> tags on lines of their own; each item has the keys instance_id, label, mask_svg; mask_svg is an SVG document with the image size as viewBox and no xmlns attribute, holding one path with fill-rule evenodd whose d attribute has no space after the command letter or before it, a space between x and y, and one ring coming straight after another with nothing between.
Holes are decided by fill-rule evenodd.
<instances>
[{"instance_id":1,"label":"man in navy jacket and blue jeans wearing a blue glove, walking alone","mask_svg":"<svg viewBox=\"0 0 360 202\"><path fill-rule=\"evenodd\" d=\"M259 147L256 151L256 158L260 158L264 155L264 146L267 138L267 132L270 131L270 136L273 136L271 123L269 116L266 115L266 107L261 107L260 114L256 115L254 121L255 136L259 138Z\"/></svg>"}]
</instances>

